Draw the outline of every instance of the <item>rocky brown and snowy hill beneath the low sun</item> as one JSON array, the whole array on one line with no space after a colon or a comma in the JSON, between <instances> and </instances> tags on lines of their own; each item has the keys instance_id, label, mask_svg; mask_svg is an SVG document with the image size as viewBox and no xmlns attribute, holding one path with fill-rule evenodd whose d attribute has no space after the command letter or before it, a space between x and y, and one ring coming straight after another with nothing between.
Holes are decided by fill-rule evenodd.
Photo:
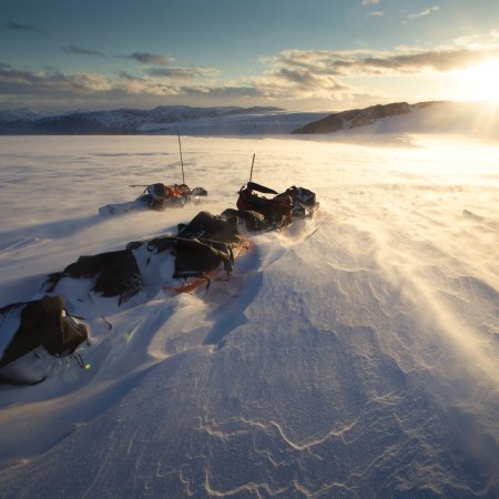
<instances>
[{"instance_id":1,"label":"rocky brown and snowy hill beneath the low sun","mask_svg":"<svg viewBox=\"0 0 499 499\"><path fill-rule=\"evenodd\" d=\"M461 133L499 139L499 112L489 102L398 102L334 113L292 133L338 132Z\"/></svg>"}]
</instances>

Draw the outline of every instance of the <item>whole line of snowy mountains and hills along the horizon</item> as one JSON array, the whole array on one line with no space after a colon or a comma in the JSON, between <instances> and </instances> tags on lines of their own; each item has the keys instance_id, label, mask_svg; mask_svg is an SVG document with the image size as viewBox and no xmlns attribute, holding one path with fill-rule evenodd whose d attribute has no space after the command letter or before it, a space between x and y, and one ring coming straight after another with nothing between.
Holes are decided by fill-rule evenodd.
<instances>
[{"instance_id":1,"label":"whole line of snowy mountains and hills along the horizon","mask_svg":"<svg viewBox=\"0 0 499 499\"><path fill-rule=\"evenodd\" d=\"M396 102L330 112L292 112L272 106L119 109L41 115L27 109L0 111L0 134L190 134L285 135L350 133L466 133L499 139L490 103Z\"/></svg>"}]
</instances>

